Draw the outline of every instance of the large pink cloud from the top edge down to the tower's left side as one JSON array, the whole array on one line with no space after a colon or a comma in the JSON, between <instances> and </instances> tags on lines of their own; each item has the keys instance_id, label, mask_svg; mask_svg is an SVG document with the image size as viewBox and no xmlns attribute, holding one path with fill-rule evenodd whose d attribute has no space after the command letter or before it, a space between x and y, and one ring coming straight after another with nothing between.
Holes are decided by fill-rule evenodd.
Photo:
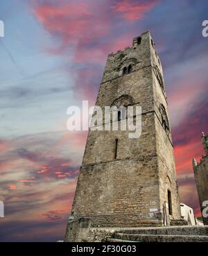
<instances>
[{"instance_id":1,"label":"large pink cloud from the top edge down to the tower's left side","mask_svg":"<svg viewBox=\"0 0 208 256\"><path fill-rule=\"evenodd\" d=\"M34 4L35 17L58 42L53 49L47 47L45 50L49 54L68 54L75 66L67 71L75 78L73 92L76 98L94 102L107 54L131 45L133 33L115 36L115 24L118 24L115 19L119 13L122 12L121 17L125 19L122 22L128 23L141 18L156 2L132 4L130 1L115 3L107 0L105 4L92 1L55 4L37 1ZM81 65L79 69L77 65Z\"/></svg>"}]
</instances>

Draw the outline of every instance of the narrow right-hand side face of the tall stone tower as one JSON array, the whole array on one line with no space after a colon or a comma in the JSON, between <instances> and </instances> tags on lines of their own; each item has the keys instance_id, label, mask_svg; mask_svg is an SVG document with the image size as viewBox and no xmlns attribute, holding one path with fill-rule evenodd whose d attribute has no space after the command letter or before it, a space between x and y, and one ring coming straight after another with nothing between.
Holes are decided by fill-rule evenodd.
<instances>
[{"instance_id":1,"label":"narrow right-hand side face of the tall stone tower","mask_svg":"<svg viewBox=\"0 0 208 256\"><path fill-rule=\"evenodd\" d=\"M159 62L157 52L154 47L151 47L152 67L157 65L162 74L162 65ZM171 201L173 209L173 219L181 219L180 212L180 199L177 190L177 177L175 171L175 158L173 154L173 144L171 138L171 127L166 131L162 126L162 116L160 112L160 105L164 105L168 117L168 103L166 100L165 88L159 85L159 81L155 76L153 70L153 92L154 92L154 109L155 109L155 128L156 128L156 142L157 142L157 155L158 155L158 168L159 168L159 189L161 196L161 207L164 207L166 202L166 212L168 213L168 189L171 191ZM168 117L168 123L170 121ZM167 214L167 221L170 223L170 218Z\"/></svg>"}]
</instances>

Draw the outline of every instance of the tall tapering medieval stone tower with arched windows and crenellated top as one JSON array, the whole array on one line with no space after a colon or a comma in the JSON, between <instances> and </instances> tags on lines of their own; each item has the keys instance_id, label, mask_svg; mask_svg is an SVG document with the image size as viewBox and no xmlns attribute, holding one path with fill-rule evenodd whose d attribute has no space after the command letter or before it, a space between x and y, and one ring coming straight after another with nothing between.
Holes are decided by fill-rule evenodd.
<instances>
[{"instance_id":1,"label":"tall tapering medieval stone tower with arched windows and crenellated top","mask_svg":"<svg viewBox=\"0 0 208 256\"><path fill-rule=\"evenodd\" d=\"M107 57L96 105L141 106L141 136L89 131L66 240L82 218L121 228L181 219L162 65L149 32Z\"/></svg>"}]
</instances>

